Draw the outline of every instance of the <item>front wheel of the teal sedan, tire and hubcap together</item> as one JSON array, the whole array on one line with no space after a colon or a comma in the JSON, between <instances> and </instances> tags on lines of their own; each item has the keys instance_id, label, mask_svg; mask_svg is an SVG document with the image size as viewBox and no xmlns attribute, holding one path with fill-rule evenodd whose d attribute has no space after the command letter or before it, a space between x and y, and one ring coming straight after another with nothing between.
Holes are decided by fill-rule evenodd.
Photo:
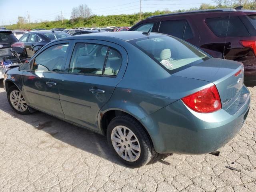
<instances>
[{"instance_id":1,"label":"front wheel of the teal sedan, tire and hubcap together","mask_svg":"<svg viewBox=\"0 0 256 192\"><path fill-rule=\"evenodd\" d=\"M18 100L19 96L20 96L20 99ZM22 93L16 86L11 86L7 90L7 99L8 99L10 106L13 108L13 110L16 113L22 114L22 115L30 114L30 112L28 110L28 105L26 104L26 101L25 101L25 98L22 96ZM16 100L18 102L14 102L14 100ZM18 104L15 105L15 103L16 104L18 103ZM20 106L20 107L18 107L18 106Z\"/></svg>"}]
</instances>

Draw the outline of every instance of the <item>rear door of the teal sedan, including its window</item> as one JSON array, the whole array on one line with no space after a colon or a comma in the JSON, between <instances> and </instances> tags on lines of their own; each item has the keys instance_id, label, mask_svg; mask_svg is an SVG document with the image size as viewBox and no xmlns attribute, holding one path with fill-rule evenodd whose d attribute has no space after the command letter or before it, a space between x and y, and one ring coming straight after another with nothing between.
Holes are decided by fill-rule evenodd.
<instances>
[{"instance_id":1,"label":"rear door of the teal sedan, including its window","mask_svg":"<svg viewBox=\"0 0 256 192\"><path fill-rule=\"evenodd\" d=\"M128 56L117 44L76 40L59 85L65 119L98 131L97 116L126 69Z\"/></svg>"}]
</instances>

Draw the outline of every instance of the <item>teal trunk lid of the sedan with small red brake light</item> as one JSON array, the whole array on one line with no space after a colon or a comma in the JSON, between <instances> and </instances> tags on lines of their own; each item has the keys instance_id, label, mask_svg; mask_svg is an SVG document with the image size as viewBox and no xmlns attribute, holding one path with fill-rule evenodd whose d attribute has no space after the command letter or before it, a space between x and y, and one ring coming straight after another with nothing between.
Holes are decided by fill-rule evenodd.
<instances>
[{"instance_id":1,"label":"teal trunk lid of the sedan with small red brake light","mask_svg":"<svg viewBox=\"0 0 256 192\"><path fill-rule=\"evenodd\" d=\"M224 110L236 101L244 82L242 63L217 58L210 58L173 75L213 82Z\"/></svg>"}]
</instances>

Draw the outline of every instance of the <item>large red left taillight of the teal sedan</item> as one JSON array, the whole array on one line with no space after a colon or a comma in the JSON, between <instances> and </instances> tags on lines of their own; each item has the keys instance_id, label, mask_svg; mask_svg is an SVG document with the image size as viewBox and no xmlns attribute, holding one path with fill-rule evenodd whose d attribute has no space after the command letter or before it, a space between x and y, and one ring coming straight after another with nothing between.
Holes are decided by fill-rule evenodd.
<instances>
[{"instance_id":1,"label":"large red left taillight of the teal sedan","mask_svg":"<svg viewBox=\"0 0 256 192\"><path fill-rule=\"evenodd\" d=\"M210 113L222 108L220 95L215 85L182 98L190 109L200 113Z\"/></svg>"}]
</instances>

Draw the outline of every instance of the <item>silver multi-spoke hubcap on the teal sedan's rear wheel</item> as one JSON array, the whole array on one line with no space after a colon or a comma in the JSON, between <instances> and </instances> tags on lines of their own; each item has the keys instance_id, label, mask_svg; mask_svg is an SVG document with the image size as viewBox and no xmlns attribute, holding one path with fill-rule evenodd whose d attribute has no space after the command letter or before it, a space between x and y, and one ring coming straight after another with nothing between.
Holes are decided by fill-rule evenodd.
<instances>
[{"instance_id":1,"label":"silver multi-spoke hubcap on the teal sedan's rear wheel","mask_svg":"<svg viewBox=\"0 0 256 192\"><path fill-rule=\"evenodd\" d=\"M126 161L136 161L140 157L140 142L134 132L126 126L116 126L111 133L114 149Z\"/></svg>"}]
</instances>

